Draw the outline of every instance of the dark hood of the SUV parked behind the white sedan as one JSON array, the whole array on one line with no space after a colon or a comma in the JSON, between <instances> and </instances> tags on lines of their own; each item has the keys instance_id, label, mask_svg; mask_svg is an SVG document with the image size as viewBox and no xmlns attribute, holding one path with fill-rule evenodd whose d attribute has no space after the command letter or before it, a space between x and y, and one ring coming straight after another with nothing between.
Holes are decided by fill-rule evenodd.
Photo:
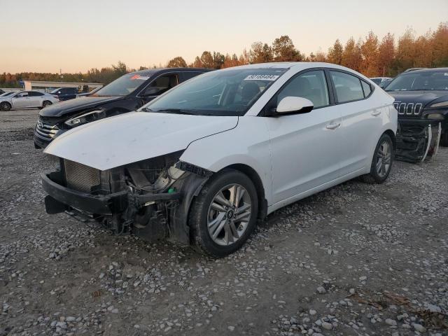
<instances>
[{"instance_id":1,"label":"dark hood of the SUV parked behind the white sedan","mask_svg":"<svg viewBox=\"0 0 448 336\"><path fill-rule=\"evenodd\" d=\"M84 97L83 99L69 99L64 102L45 107L39 113L42 117L60 117L76 111L90 109L97 104L113 102L124 97Z\"/></svg>"}]
</instances>

